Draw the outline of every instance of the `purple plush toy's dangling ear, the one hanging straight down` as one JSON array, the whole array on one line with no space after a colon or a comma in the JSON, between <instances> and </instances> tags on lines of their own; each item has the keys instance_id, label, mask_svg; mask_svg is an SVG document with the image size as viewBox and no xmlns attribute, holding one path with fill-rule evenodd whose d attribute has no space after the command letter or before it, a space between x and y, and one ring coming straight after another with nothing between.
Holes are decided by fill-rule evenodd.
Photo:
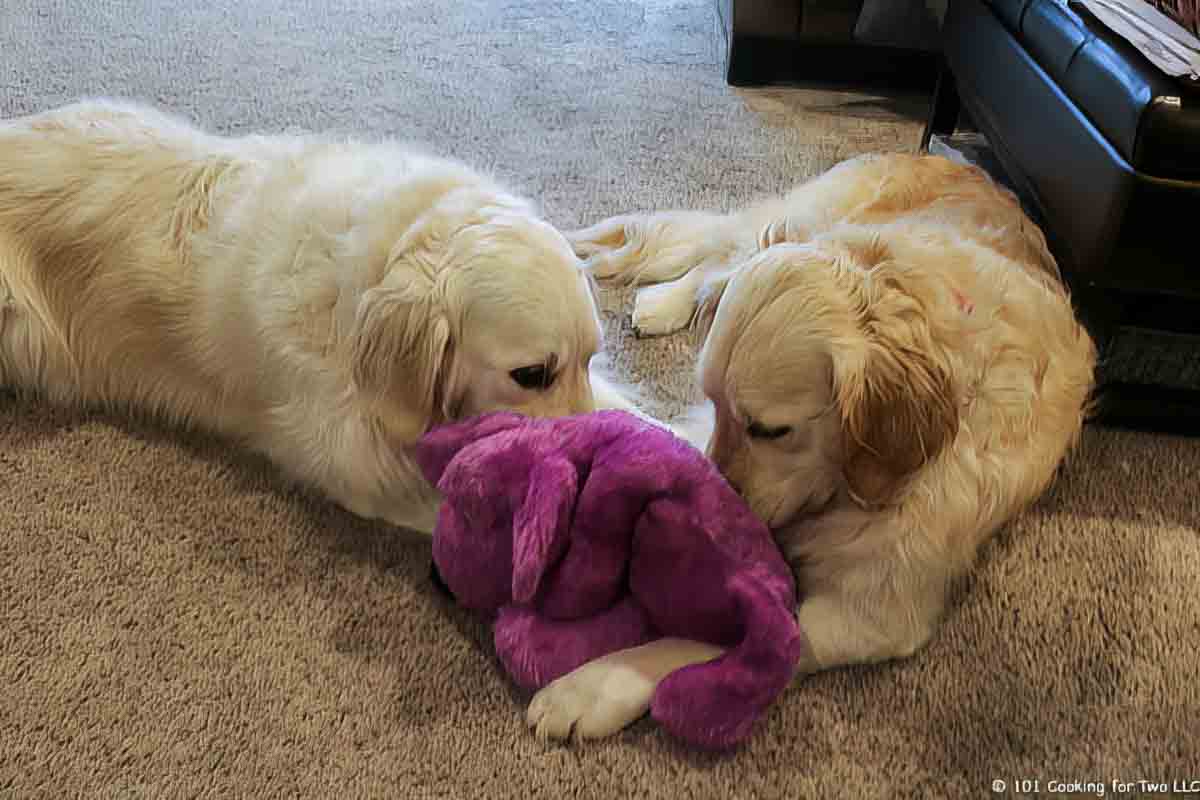
<instances>
[{"instance_id":1,"label":"purple plush toy's dangling ear, the one hanging straight down","mask_svg":"<svg viewBox=\"0 0 1200 800\"><path fill-rule=\"evenodd\" d=\"M565 458L547 458L529 475L524 503L512 516L512 600L529 603L566 549L580 477Z\"/></svg>"}]
</instances>

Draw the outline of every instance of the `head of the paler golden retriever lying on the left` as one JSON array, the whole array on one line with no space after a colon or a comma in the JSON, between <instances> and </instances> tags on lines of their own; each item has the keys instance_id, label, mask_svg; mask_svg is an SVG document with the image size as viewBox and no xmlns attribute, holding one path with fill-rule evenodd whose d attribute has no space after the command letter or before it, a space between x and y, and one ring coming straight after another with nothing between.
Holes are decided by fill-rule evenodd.
<instances>
[{"instance_id":1,"label":"head of the paler golden retriever lying on the left","mask_svg":"<svg viewBox=\"0 0 1200 800\"><path fill-rule=\"evenodd\" d=\"M402 438L511 409L593 408L600 347L589 278L566 240L523 203L450 192L386 254L349 331L353 385Z\"/></svg>"}]
</instances>

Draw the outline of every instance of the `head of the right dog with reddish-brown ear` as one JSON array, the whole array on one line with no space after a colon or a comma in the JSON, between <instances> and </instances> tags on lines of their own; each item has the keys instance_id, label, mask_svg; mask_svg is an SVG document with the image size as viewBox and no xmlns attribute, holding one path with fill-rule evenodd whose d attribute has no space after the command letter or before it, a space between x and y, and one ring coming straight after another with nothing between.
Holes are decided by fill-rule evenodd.
<instances>
[{"instance_id":1,"label":"head of the right dog with reddish-brown ear","mask_svg":"<svg viewBox=\"0 0 1200 800\"><path fill-rule=\"evenodd\" d=\"M778 245L709 287L709 456L772 528L841 491L887 505L954 439L937 291L872 239Z\"/></svg>"}]
</instances>

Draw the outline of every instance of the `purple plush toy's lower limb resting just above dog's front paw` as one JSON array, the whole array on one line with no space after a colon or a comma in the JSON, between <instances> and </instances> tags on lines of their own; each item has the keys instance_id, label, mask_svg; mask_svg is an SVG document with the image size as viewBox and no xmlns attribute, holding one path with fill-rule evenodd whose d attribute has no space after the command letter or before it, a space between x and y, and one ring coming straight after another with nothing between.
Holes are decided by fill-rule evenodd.
<instances>
[{"instance_id":1,"label":"purple plush toy's lower limb resting just above dog's front paw","mask_svg":"<svg viewBox=\"0 0 1200 800\"><path fill-rule=\"evenodd\" d=\"M492 636L512 680L541 688L580 664L649 640L652 632L642 608L626 599L595 616L565 621L526 606L505 606Z\"/></svg>"}]
</instances>

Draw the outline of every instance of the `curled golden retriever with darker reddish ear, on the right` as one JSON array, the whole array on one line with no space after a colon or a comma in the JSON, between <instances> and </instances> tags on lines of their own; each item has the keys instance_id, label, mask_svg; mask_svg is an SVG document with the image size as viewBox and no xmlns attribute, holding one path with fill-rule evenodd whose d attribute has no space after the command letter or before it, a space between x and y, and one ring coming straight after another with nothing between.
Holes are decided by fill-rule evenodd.
<instances>
[{"instance_id":1,"label":"curled golden retriever with darker reddish ear, on the right","mask_svg":"<svg viewBox=\"0 0 1200 800\"><path fill-rule=\"evenodd\" d=\"M599 275L666 281L637 297L643 332L708 326L708 453L794 567L802 674L922 648L952 582L1080 434L1094 347L1042 233L977 168L862 157L739 213L619 217L574 243ZM718 652L616 652L542 690L527 721L612 733Z\"/></svg>"}]
</instances>

